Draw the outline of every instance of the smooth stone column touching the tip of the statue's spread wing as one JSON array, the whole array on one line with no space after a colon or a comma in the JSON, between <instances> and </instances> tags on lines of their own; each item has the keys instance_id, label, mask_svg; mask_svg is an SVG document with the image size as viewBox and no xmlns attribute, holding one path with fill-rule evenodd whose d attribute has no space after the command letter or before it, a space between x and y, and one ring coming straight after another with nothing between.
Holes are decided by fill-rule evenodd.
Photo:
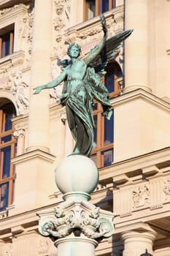
<instances>
[{"instance_id":1,"label":"smooth stone column touching the tip of the statue's spread wing","mask_svg":"<svg viewBox=\"0 0 170 256\"><path fill-rule=\"evenodd\" d=\"M125 40L125 89L150 91L148 79L148 1L125 0L125 29L134 29Z\"/></svg>"}]
</instances>

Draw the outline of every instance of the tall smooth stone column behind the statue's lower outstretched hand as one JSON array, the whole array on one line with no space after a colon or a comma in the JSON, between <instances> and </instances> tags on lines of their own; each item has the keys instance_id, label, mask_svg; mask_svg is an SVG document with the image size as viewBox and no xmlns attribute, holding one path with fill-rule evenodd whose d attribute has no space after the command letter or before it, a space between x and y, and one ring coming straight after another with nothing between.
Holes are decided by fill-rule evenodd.
<instances>
[{"instance_id":1,"label":"tall smooth stone column behind the statue's lower outstretched hand","mask_svg":"<svg viewBox=\"0 0 170 256\"><path fill-rule=\"evenodd\" d=\"M33 94L34 87L50 82L50 56L52 51L52 0L36 0L31 59L30 107L28 148L49 150L49 90Z\"/></svg>"}]
</instances>

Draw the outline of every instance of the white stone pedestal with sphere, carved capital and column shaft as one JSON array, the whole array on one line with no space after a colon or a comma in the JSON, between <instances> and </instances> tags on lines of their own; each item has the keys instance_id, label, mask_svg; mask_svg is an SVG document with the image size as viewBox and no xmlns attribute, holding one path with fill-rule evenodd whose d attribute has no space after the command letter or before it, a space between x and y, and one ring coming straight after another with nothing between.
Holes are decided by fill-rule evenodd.
<instances>
[{"instance_id":1,"label":"white stone pedestal with sphere, carved capital and column shaft","mask_svg":"<svg viewBox=\"0 0 170 256\"><path fill-rule=\"evenodd\" d=\"M98 170L91 159L70 155L55 169L55 182L63 202L38 213L39 233L50 236L58 256L94 255L103 238L112 236L113 214L90 203L98 184Z\"/></svg>"}]
</instances>

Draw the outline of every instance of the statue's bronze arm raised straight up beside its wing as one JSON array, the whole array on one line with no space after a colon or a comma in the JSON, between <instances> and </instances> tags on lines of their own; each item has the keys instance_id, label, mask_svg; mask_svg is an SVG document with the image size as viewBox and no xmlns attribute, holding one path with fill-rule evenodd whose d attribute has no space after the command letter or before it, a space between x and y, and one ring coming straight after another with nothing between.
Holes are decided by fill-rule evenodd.
<instances>
[{"instance_id":1,"label":"statue's bronze arm raised straight up beside its wing","mask_svg":"<svg viewBox=\"0 0 170 256\"><path fill-rule=\"evenodd\" d=\"M104 37L101 40L101 42L98 45L96 45L95 48L93 48L93 50L90 51L90 53L88 53L88 56L85 57L85 59L83 59L86 64L89 64L91 61L93 61L93 59L96 58L96 56L104 48L105 42L107 40L107 24L106 24L106 20L105 20L103 14L100 15L100 18L101 18L102 29L104 31Z\"/></svg>"}]
</instances>

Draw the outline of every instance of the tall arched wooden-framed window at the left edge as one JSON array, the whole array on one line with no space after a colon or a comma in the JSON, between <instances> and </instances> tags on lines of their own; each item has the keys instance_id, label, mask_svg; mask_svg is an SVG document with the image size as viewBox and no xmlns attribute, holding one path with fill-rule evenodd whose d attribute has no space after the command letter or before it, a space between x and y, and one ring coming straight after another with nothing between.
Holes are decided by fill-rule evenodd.
<instances>
[{"instance_id":1,"label":"tall arched wooden-framed window at the left edge","mask_svg":"<svg viewBox=\"0 0 170 256\"><path fill-rule=\"evenodd\" d=\"M0 99L0 211L4 211L13 202L15 170L11 159L15 157L16 141L12 133L14 105Z\"/></svg>"}]
</instances>

